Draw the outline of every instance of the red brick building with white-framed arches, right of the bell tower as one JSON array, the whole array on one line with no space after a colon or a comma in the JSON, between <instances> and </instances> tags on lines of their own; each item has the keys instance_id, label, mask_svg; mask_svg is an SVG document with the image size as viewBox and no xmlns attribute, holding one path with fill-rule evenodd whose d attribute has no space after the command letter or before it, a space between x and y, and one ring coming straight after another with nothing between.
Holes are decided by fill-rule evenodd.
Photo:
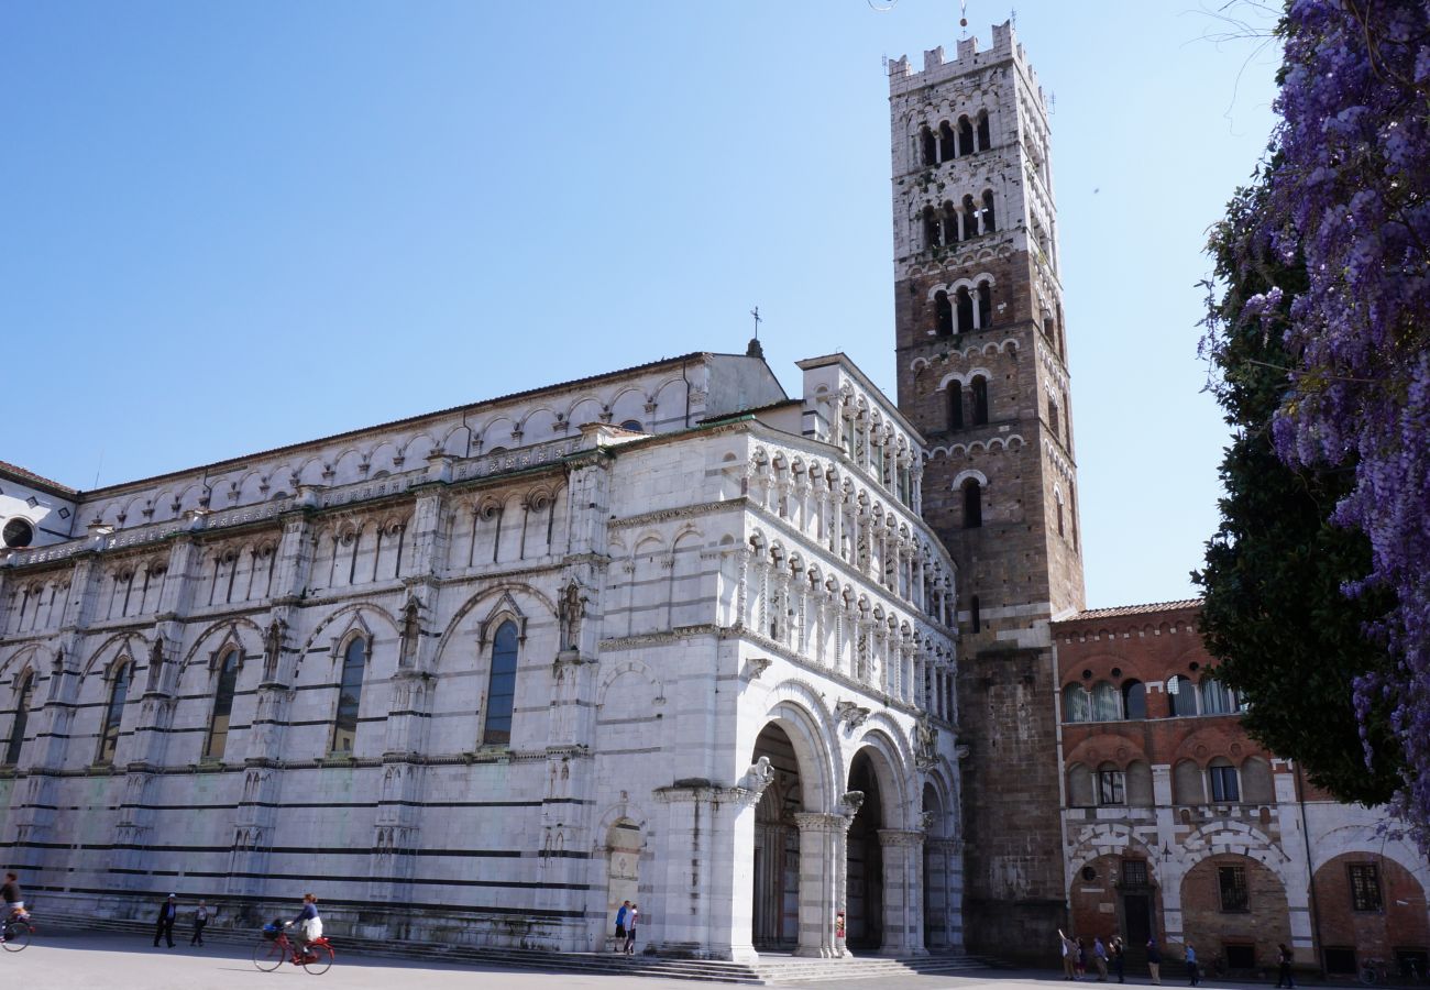
<instances>
[{"instance_id":1,"label":"red brick building with white-framed arches, right of the bell tower","mask_svg":"<svg viewBox=\"0 0 1430 990\"><path fill-rule=\"evenodd\" d=\"M1337 803L1246 734L1197 617L1178 601L1052 624L1072 931L1155 936L1173 957L1191 943L1233 971L1274 970L1284 943L1330 973L1424 973L1430 864L1380 810Z\"/></svg>"}]
</instances>

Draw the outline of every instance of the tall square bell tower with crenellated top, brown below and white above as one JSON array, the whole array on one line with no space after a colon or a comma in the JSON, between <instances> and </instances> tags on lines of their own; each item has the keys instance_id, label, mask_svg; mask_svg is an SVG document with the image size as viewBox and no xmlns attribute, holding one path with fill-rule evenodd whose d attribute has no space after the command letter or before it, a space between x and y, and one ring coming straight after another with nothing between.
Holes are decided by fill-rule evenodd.
<instances>
[{"instance_id":1,"label":"tall square bell tower with crenellated top, brown below and white above","mask_svg":"<svg viewBox=\"0 0 1430 990\"><path fill-rule=\"evenodd\" d=\"M889 64L898 405L958 565L965 943L1065 926L1048 622L1084 607L1048 112L1011 24Z\"/></svg>"}]
</instances>

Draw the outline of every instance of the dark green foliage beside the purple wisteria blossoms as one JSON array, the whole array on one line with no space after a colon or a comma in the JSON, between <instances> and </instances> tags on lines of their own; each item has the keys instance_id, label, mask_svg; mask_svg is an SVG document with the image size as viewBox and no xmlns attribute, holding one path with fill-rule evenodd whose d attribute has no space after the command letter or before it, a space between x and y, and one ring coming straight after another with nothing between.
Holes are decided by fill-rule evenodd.
<instances>
[{"instance_id":1,"label":"dark green foliage beside the purple wisteria blossoms","mask_svg":"<svg viewBox=\"0 0 1430 990\"><path fill-rule=\"evenodd\" d=\"M1373 707L1361 725L1353 695L1358 677L1391 667L1366 629L1394 599L1383 588L1343 591L1371 569L1364 534L1327 522L1354 485L1353 468L1293 469L1274 448L1271 421L1291 388L1281 340L1307 283L1300 256L1284 260L1257 229L1274 167L1238 190L1208 243L1224 292L1218 299L1207 283L1203 353L1234 435L1221 462L1221 526L1193 574L1204 594L1201 634L1250 702L1244 722L1256 740L1338 798L1380 804L1401 784L1403 753L1389 712ZM1273 288L1281 289L1274 302L1256 305Z\"/></svg>"}]
</instances>

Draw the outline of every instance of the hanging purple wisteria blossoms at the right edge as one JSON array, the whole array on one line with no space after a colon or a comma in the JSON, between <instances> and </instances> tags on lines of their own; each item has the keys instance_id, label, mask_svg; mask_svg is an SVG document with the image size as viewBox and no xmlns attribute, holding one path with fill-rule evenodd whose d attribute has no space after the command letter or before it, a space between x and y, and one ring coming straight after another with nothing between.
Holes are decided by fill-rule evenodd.
<instances>
[{"instance_id":1,"label":"hanging purple wisteria blossoms at the right edge","mask_svg":"<svg viewBox=\"0 0 1430 990\"><path fill-rule=\"evenodd\" d=\"M1274 422L1293 466L1353 471L1331 521L1370 539L1394 607L1376 628L1390 662L1356 681L1390 708L1403 751L1394 807L1430 844L1430 3L1290 0L1261 230L1304 258L1290 299L1288 389ZM1273 288L1247 312L1273 312Z\"/></svg>"}]
</instances>

